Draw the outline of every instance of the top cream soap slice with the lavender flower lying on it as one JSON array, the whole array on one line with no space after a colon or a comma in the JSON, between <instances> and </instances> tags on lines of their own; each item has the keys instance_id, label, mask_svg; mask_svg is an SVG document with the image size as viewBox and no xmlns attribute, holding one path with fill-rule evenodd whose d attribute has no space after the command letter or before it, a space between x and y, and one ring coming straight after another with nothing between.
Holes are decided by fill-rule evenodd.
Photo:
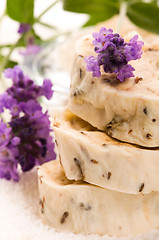
<instances>
[{"instance_id":1,"label":"top cream soap slice with the lavender flower lying on it","mask_svg":"<svg viewBox=\"0 0 159 240\"><path fill-rule=\"evenodd\" d=\"M69 109L110 136L145 147L159 146L159 44L145 45L142 58L131 61L135 77L120 83L115 75L92 77L84 58L96 55L93 38L76 45Z\"/></svg>"}]
</instances>

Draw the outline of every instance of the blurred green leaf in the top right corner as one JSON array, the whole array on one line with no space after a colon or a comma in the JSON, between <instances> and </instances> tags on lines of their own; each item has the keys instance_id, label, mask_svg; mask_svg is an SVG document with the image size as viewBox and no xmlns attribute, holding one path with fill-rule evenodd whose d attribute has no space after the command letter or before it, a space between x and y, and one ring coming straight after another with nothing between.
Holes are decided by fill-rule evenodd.
<instances>
[{"instance_id":1,"label":"blurred green leaf in the top right corner","mask_svg":"<svg viewBox=\"0 0 159 240\"><path fill-rule=\"evenodd\" d=\"M134 2L128 6L127 15L137 26L159 33L159 7L156 1Z\"/></svg>"}]
</instances>

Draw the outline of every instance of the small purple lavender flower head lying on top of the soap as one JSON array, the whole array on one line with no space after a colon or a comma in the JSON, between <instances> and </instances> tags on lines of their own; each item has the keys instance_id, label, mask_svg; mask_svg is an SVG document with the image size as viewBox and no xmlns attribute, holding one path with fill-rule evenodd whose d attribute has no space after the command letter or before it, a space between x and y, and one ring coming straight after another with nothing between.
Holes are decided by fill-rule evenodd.
<instances>
[{"instance_id":1,"label":"small purple lavender flower head lying on top of the soap","mask_svg":"<svg viewBox=\"0 0 159 240\"><path fill-rule=\"evenodd\" d=\"M106 73L116 73L117 79L123 82L126 78L133 77L135 69L128 64L130 60L141 58L143 42L138 41L135 35L130 41L124 42L118 33L113 34L112 29L101 28L99 33L93 33L97 57L85 58L86 71L92 72L93 77L101 75L100 66Z\"/></svg>"}]
</instances>

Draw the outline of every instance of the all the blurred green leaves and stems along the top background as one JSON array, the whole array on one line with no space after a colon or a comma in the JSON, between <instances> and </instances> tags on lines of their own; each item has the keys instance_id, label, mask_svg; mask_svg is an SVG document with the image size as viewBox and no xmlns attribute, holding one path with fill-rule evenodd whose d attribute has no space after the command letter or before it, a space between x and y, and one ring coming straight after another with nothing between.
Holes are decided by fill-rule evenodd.
<instances>
[{"instance_id":1,"label":"all the blurred green leaves and stems along the top background","mask_svg":"<svg viewBox=\"0 0 159 240\"><path fill-rule=\"evenodd\" d=\"M125 2L126 14L133 23L148 31L159 33L159 6L157 0L150 0L149 2L144 0L52 0L52 3L37 18L34 16L34 1L6 0L6 9L3 16L7 14L14 21L29 24L30 30L23 32L14 45L0 45L0 75L6 67L13 67L17 64L10 59L15 48L27 47L29 44L36 46L44 43L35 32L35 23L51 28L54 36L57 34L56 28L53 25L42 22L41 17L59 1L63 1L64 10L89 15L89 20L83 27L95 25L119 14L122 3ZM7 56L3 55L3 48L9 49Z\"/></svg>"}]
</instances>

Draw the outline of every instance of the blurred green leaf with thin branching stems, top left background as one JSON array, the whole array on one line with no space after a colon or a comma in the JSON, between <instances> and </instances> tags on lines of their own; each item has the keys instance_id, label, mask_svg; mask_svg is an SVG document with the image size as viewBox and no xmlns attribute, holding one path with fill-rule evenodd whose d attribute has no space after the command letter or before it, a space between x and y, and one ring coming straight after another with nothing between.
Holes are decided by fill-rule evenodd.
<instances>
[{"instance_id":1,"label":"blurred green leaf with thin branching stems, top left background","mask_svg":"<svg viewBox=\"0 0 159 240\"><path fill-rule=\"evenodd\" d=\"M21 25L30 26L27 31L21 32L18 31L19 39L13 45L0 45L0 76L3 70L7 67L14 67L17 65L17 62L10 59L13 50L17 47L30 47L42 45L44 41L38 36L35 32L34 24L38 23L43 25L46 28L51 28L53 30L53 37L55 35L55 27L53 25L46 24L41 21L41 17L45 14L50 8L52 8L58 1L52 1L52 3L45 9L37 18L34 16L34 0L7 0L6 9L3 16L0 18L0 22L3 20L5 15L8 15L12 20L19 22ZM48 40L46 40L48 41ZM8 55L3 55L3 48L8 49ZM31 49L31 48L29 48ZM35 49L35 48L32 48ZM30 50L28 51L30 52Z\"/></svg>"}]
</instances>

